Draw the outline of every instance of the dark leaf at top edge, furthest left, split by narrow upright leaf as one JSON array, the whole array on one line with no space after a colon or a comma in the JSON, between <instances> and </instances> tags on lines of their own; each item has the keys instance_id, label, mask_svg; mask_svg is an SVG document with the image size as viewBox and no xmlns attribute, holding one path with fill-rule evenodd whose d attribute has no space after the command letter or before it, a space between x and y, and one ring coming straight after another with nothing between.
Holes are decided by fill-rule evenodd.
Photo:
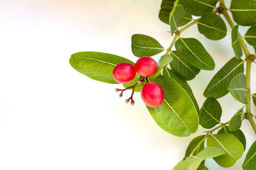
<instances>
[{"instance_id":1,"label":"dark leaf at top edge, furthest left, split by narrow upright leaf","mask_svg":"<svg viewBox=\"0 0 256 170\"><path fill-rule=\"evenodd\" d=\"M163 0L161 3L161 9L159 11L159 19L164 22L165 24L170 25L170 13L173 8L173 4L175 3L175 0ZM179 27L188 24L192 20L192 16L190 13L186 11L185 17L181 20Z\"/></svg>"}]
</instances>

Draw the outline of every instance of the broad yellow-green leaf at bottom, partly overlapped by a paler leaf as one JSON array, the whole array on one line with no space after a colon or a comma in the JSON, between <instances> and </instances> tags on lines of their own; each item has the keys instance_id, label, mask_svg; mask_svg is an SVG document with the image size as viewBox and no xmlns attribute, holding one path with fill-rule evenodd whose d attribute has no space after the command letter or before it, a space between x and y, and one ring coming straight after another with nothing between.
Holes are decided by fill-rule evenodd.
<instances>
[{"instance_id":1,"label":"broad yellow-green leaf at bottom, partly overlapped by a paler leaf","mask_svg":"<svg viewBox=\"0 0 256 170\"><path fill-rule=\"evenodd\" d=\"M207 138L207 146L216 146L225 151L225 155L214 157L222 167L231 167L241 158L244 152L242 143L232 134L210 134Z\"/></svg>"}]
</instances>

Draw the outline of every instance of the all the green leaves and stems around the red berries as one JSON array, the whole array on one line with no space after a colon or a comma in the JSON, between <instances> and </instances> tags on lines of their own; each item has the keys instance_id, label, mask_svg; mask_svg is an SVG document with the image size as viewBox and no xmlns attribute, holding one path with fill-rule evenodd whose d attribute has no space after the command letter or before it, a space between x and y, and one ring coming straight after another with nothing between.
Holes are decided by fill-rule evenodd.
<instances>
[{"instance_id":1,"label":"all the green leaves and stems around the red berries","mask_svg":"<svg viewBox=\"0 0 256 170\"><path fill-rule=\"evenodd\" d=\"M218 4L217 8L216 4ZM230 18L228 11L232 13L237 25ZM180 34L197 24L198 31L207 39L223 39L227 36L227 26L220 14L232 27L231 41L236 57L230 59L213 76L204 90L204 96L207 99L200 109L187 81L193 80L201 69L214 70L215 62L200 41L195 38L182 38ZM192 15L200 17L195 19ZM256 52L255 18L256 0L232 0L230 9L227 9L225 1L218 2L218 0L162 0L159 19L170 25L172 35L175 33L172 43L158 60L158 68L153 76L145 78L136 74L134 80L124 84L124 88L132 87L130 90L133 95L133 92L140 92L148 80L158 83L164 91L163 104L159 108L147 107L147 109L157 125L170 134L189 136L197 131L199 123L205 129L210 129L189 143L184 159L173 168L174 170L205 170L208 168L204 166L204 161L210 158L222 167L231 167L243 155L246 138L240 130L242 120L255 117L250 104L247 104L250 95L248 93L250 87L247 85L250 83L250 64L255 54L252 55L250 49L246 47L247 42L255 48ZM180 29L179 27L183 25L185 26ZM241 36L238 31L239 25L250 26L244 36ZM150 36L134 34L131 40L132 53L136 57L151 57L165 50L156 39ZM176 51L172 51L173 45ZM247 60L241 60L243 52ZM112 76L113 69L122 62L134 64L123 57L101 52L79 52L74 53L70 58L71 66L80 73L93 80L114 84L116 81ZM244 62L247 62L246 76ZM168 64L171 69L168 68ZM137 85L137 83L141 84ZM243 113L244 106L232 116L229 122L221 123L222 108L217 99L228 92L234 99L246 104L248 114ZM251 95L256 106L256 94ZM250 120L250 123L256 132L253 121ZM217 134L216 131L218 131ZM205 140L207 140L206 148ZM246 155L243 169L256 169L255 162L256 141Z\"/></svg>"}]
</instances>

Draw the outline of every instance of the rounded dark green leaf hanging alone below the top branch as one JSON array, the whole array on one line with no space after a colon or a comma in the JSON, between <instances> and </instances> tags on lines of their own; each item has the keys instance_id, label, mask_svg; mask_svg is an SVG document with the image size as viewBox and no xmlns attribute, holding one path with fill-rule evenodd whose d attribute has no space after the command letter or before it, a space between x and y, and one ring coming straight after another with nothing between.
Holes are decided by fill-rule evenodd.
<instances>
[{"instance_id":1,"label":"rounded dark green leaf hanging alone below the top branch","mask_svg":"<svg viewBox=\"0 0 256 170\"><path fill-rule=\"evenodd\" d=\"M219 40L227 35L223 19L216 13L207 13L197 22L198 31L208 39Z\"/></svg>"}]
</instances>

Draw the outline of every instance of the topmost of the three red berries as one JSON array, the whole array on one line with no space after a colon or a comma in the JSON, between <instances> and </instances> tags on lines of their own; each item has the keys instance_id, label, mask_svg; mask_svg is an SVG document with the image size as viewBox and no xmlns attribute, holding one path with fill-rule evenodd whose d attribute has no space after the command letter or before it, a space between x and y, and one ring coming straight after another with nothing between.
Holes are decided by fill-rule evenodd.
<instances>
[{"instance_id":1,"label":"topmost of the three red berries","mask_svg":"<svg viewBox=\"0 0 256 170\"><path fill-rule=\"evenodd\" d=\"M135 70L140 76L152 76L157 70L156 61L150 57L141 57L135 64Z\"/></svg>"}]
</instances>

